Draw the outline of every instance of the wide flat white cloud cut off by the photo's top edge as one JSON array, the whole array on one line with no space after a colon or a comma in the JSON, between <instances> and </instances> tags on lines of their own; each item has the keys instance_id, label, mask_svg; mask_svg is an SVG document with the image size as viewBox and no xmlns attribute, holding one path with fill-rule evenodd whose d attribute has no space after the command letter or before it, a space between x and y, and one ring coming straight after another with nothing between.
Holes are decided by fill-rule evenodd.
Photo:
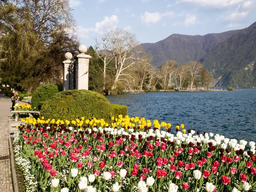
<instances>
[{"instance_id":1,"label":"wide flat white cloud cut off by the photo's top edge","mask_svg":"<svg viewBox=\"0 0 256 192\"><path fill-rule=\"evenodd\" d=\"M176 3L195 3L198 6L221 8L238 5L244 1L245 0L177 0Z\"/></svg>"}]
</instances>

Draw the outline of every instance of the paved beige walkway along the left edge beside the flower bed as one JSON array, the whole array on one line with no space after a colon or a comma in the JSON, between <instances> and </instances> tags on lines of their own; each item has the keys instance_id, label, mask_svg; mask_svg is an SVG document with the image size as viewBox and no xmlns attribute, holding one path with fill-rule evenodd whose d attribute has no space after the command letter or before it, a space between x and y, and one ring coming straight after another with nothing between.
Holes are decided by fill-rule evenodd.
<instances>
[{"instance_id":1,"label":"paved beige walkway along the left edge beside the flower bed","mask_svg":"<svg viewBox=\"0 0 256 192\"><path fill-rule=\"evenodd\" d=\"M9 119L11 113L12 102L9 97L0 96L0 191L13 192L12 187L12 172L11 160L9 153L8 137L10 133L15 131L15 128L9 128Z\"/></svg>"}]
</instances>

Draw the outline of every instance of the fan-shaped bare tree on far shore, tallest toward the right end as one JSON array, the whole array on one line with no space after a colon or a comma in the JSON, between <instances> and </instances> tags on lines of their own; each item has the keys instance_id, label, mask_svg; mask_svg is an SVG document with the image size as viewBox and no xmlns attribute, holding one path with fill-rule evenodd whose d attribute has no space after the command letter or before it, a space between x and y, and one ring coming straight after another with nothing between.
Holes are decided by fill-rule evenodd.
<instances>
[{"instance_id":1,"label":"fan-shaped bare tree on far shore, tallest toward the right end","mask_svg":"<svg viewBox=\"0 0 256 192\"><path fill-rule=\"evenodd\" d=\"M199 72L202 68L203 68L203 65L199 61L189 61L186 64L186 72L188 73L191 79L191 86L190 86L191 89L193 89L195 77L200 76Z\"/></svg>"}]
</instances>

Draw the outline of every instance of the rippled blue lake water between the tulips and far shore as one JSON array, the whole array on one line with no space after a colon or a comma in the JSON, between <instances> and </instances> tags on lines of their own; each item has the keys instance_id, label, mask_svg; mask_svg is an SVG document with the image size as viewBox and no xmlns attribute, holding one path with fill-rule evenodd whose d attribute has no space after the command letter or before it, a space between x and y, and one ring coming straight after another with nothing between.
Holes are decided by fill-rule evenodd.
<instances>
[{"instance_id":1,"label":"rippled blue lake water between the tulips and far shore","mask_svg":"<svg viewBox=\"0 0 256 192\"><path fill-rule=\"evenodd\" d=\"M209 92L122 93L106 96L126 105L129 116L183 123L186 129L222 134L237 140L256 141L256 89Z\"/></svg>"}]
</instances>

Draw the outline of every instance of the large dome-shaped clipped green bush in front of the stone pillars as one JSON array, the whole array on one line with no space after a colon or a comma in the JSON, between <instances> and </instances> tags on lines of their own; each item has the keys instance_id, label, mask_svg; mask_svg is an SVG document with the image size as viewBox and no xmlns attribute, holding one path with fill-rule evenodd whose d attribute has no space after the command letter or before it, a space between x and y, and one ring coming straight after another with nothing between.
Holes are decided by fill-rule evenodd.
<instances>
[{"instance_id":1,"label":"large dome-shaped clipped green bush in front of the stone pillars","mask_svg":"<svg viewBox=\"0 0 256 192\"><path fill-rule=\"evenodd\" d=\"M33 98L33 97L32 97ZM40 116L49 119L111 118L111 104L100 93L90 90L67 90L57 93L42 104Z\"/></svg>"}]
</instances>

